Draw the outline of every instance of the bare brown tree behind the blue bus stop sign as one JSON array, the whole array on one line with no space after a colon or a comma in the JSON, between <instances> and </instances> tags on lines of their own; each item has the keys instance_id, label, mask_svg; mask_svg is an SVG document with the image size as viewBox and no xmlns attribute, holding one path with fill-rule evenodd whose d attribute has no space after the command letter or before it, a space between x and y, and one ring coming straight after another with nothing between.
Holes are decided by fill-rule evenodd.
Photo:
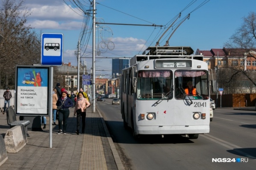
<instances>
[{"instance_id":1,"label":"bare brown tree behind the blue bus stop sign","mask_svg":"<svg viewBox=\"0 0 256 170\"><path fill-rule=\"evenodd\" d=\"M40 36L27 26L29 11L24 0L3 0L0 9L0 78L2 88L15 85L15 66L39 64ZM3 85L4 84L4 85Z\"/></svg>"}]
</instances>

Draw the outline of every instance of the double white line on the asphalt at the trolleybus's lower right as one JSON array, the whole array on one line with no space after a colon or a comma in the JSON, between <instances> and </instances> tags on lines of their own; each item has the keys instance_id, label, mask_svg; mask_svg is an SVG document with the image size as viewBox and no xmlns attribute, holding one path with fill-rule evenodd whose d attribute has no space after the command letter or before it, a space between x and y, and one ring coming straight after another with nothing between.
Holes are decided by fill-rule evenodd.
<instances>
[{"instance_id":1,"label":"double white line on the asphalt at the trolleybus's lower right","mask_svg":"<svg viewBox=\"0 0 256 170\"><path fill-rule=\"evenodd\" d=\"M209 135L209 134L204 134L204 135L200 135L200 136L202 136L202 137L204 137L204 138L206 138L206 139L209 139L210 141L213 141L213 142L215 142L215 143L217 143L217 144L220 144L220 145L222 145L222 146L224 146L224 147L227 147L227 148L229 148L230 150L241 149L241 148L242 148L242 147L239 147L239 146L237 146L237 145L235 145L235 144L231 144L230 142L224 141L224 140L222 140L222 139L220 139L220 138L216 138L216 137L214 137L214 136L212 136L212 135ZM253 158L253 159L256 158L256 157L251 156L250 154L245 153L245 152L240 151L240 150L234 150L234 151L237 152L237 153L242 154L243 156L249 157L249 158Z\"/></svg>"}]
</instances>

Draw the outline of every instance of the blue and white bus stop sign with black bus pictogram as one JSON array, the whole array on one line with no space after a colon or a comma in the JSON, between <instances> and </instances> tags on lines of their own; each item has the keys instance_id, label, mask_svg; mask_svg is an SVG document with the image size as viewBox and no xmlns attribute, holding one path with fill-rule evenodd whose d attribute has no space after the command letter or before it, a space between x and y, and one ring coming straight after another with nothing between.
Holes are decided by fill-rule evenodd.
<instances>
[{"instance_id":1,"label":"blue and white bus stop sign with black bus pictogram","mask_svg":"<svg viewBox=\"0 0 256 170\"><path fill-rule=\"evenodd\" d=\"M41 64L62 66L63 34L42 34Z\"/></svg>"}]
</instances>

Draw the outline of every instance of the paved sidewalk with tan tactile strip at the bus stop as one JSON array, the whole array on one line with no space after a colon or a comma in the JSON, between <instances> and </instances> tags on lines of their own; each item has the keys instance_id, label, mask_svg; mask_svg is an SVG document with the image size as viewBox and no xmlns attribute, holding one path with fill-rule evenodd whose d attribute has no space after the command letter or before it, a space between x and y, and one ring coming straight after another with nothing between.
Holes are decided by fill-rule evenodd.
<instances>
[{"instance_id":1,"label":"paved sidewalk with tan tactile strip at the bus stop","mask_svg":"<svg viewBox=\"0 0 256 170\"><path fill-rule=\"evenodd\" d=\"M86 112L85 134L75 133L77 118L73 115L74 108L70 108L67 134L57 134L58 125L53 126L52 148L49 144L50 126L47 121L45 130L28 131L28 144L18 153L7 153L8 160L0 169L124 170L102 115L97 109L95 113L91 109L92 107L88 108ZM6 114L0 113L0 134L5 135L8 129Z\"/></svg>"}]
</instances>

